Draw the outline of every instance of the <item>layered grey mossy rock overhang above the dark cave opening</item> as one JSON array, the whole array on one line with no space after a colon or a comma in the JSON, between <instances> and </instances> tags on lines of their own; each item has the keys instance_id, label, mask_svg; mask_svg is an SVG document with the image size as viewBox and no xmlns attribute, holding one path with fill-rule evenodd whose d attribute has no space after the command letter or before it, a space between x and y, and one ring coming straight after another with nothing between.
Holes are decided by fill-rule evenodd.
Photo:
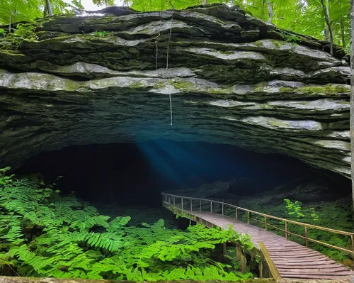
<instances>
[{"instance_id":1,"label":"layered grey mossy rock overhang above the dark cave opening","mask_svg":"<svg viewBox=\"0 0 354 283\"><path fill-rule=\"evenodd\" d=\"M281 153L350 177L340 48L331 56L329 43L236 6L99 13L15 24L24 38L3 27L0 167L67 145L166 138Z\"/></svg>"}]
</instances>

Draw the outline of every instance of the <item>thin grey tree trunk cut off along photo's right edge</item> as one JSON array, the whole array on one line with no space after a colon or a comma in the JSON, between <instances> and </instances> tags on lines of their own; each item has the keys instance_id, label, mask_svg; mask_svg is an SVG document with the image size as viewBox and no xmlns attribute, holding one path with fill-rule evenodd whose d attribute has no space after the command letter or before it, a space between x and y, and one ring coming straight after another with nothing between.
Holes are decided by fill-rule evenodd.
<instances>
[{"instance_id":1,"label":"thin grey tree trunk cut off along photo's right edge","mask_svg":"<svg viewBox=\"0 0 354 283\"><path fill-rule=\"evenodd\" d=\"M350 0L350 151L354 229L354 0Z\"/></svg>"}]
</instances>

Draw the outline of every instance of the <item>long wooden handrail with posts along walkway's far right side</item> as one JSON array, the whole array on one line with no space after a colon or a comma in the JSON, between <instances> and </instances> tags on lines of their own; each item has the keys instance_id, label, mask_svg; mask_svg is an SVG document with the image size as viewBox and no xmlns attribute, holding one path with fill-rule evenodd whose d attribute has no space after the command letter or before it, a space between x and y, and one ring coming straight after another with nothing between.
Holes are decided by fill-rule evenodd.
<instances>
[{"instance_id":1,"label":"long wooden handrail with posts along walkway's far right side","mask_svg":"<svg viewBox=\"0 0 354 283\"><path fill-rule=\"evenodd\" d=\"M265 213L261 213L261 212L258 212L258 211L252 211L251 209L244 209L244 208L239 207L239 206L234 206L233 204L228 204L228 203L226 203L224 201L214 201L212 199L200 199L200 198L195 198L195 197L178 196L176 194L166 194L166 193L161 193L161 195L165 196L166 202L167 202L167 196L169 196L170 201L171 201L171 196L172 196L173 197L173 205L175 205L175 201L176 201L175 198L182 199L182 201L183 201L183 199L188 199L190 201L193 201L193 200L199 201L200 210L201 210L201 207L202 207L201 206L201 201L207 201L208 203L210 203L210 207L211 208L212 208L212 203L221 204L222 205L222 215L224 215L224 207L225 206L229 206L229 207L232 207L233 209L235 209L236 218L237 218L237 211L238 210L245 211L247 213L247 223L249 223L250 220L261 222L261 223L263 223L265 225L265 229L267 229L267 227L270 226L272 228L278 229L279 231L285 232L285 237L287 239L288 239L289 235L295 235L295 236L297 236L299 238L303 238L306 241L305 243L306 243L307 246L308 246L308 241L311 241L311 242L314 242L314 243L318 243L320 245L325 245L325 246L327 246L329 248L334 248L336 250L342 250L342 251L347 252L347 253L354 253L354 233L350 233L350 232L346 232L346 231L340 231L340 230L335 230L335 229L321 227L321 226L316 226L316 225L302 223L302 222L298 222L298 221L292 221L292 220L289 220L289 219L280 218L280 217L276 217L276 216L271 216L270 214L265 214ZM192 209L192 204L190 204L190 209ZM256 214L258 216L263 216L264 217L264 222L261 221L261 220L258 220L256 218L251 218L249 216L250 213ZM285 223L285 229L278 228L277 226L271 225L270 223L267 222L268 219L274 219L274 220L277 220L277 221L284 222ZM299 235L299 234L296 234L296 233L292 233L292 232L288 231L288 227L287 227L288 223L292 223L292 224L295 224L295 225L298 225L298 226L303 226L304 227L305 236ZM330 245L328 243L324 243L324 242L321 242L319 240L315 240L315 239L309 238L308 235L307 235L307 228L314 228L314 229L317 229L317 230L327 231L327 232L336 233L336 234L340 234L340 235L348 235L348 236L350 236L352 250L348 250L346 248L337 247L335 245Z\"/></svg>"}]
</instances>

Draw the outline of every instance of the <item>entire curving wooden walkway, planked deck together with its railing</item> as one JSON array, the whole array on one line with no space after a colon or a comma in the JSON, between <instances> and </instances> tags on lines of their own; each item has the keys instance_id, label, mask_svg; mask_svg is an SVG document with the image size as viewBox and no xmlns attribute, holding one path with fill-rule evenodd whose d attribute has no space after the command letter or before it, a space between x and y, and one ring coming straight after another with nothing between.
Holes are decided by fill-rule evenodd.
<instances>
[{"instance_id":1,"label":"entire curving wooden walkway, planked deck together with its railing","mask_svg":"<svg viewBox=\"0 0 354 283\"><path fill-rule=\"evenodd\" d=\"M163 206L173 211L173 213L190 218L207 227L217 226L227 229L229 225L232 225L232 228L237 233L248 234L255 248L259 250L259 253L261 253L268 265L270 274L275 279L280 279L280 277L289 279L344 279L348 282L354 282L354 272L352 270L309 248L309 243L313 242L354 255L353 233L290 221L249 209L243 209L222 201L190 198L173 194L162 194L162 197ZM230 216L230 211L234 211L232 216ZM241 213L243 213L245 221L240 221ZM255 218L255 216L258 216L258 218ZM259 216L263 217L263 221L259 220ZM280 221L284 225L284 228L275 226L273 222L270 224L270 220ZM264 228L253 226L251 222L261 223ZM304 227L304 235L290 232L288 229L289 224ZM269 227L284 232L285 237L268 231ZM307 233L309 228L348 236L352 241L351 249L333 246L309 238ZM303 238L305 245L290 241L290 235Z\"/></svg>"}]
</instances>

